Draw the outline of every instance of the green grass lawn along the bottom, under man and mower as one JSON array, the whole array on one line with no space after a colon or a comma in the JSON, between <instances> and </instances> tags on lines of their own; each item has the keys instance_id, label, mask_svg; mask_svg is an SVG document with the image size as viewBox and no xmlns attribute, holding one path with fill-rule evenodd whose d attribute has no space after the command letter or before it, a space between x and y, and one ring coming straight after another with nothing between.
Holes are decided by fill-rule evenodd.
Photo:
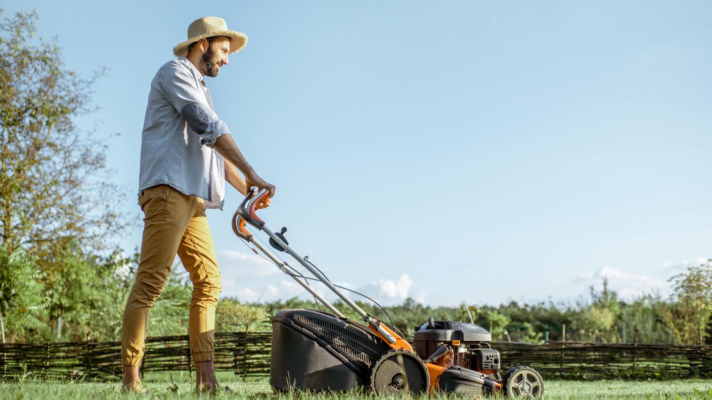
<instances>
[{"instance_id":1,"label":"green grass lawn along the bottom, under man and mower","mask_svg":"<svg viewBox=\"0 0 712 400\"><path fill-rule=\"evenodd\" d=\"M359 394L273 394L266 379L241 381L232 374L221 377L231 391L198 396L187 374L174 375L174 384L163 374L146 377L148 395L126 395L118 382L43 381L27 378L0 383L1 399L375 399ZM712 380L683 381L545 381L547 399L712 399ZM439 396L439 399L444 397Z\"/></svg>"}]
</instances>

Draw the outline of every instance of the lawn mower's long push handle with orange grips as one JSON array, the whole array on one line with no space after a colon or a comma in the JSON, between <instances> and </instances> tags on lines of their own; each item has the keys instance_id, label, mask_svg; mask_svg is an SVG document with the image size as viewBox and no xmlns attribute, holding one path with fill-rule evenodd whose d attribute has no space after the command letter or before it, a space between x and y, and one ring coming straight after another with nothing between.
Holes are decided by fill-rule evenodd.
<instances>
[{"instance_id":1,"label":"lawn mower's long push handle with orange grips","mask_svg":"<svg viewBox=\"0 0 712 400\"><path fill-rule=\"evenodd\" d=\"M329 288L333 293L335 293L341 300L343 300L347 305L349 305L353 310L355 310L358 315L360 315L365 322L368 322L370 325L375 327L377 332L384 337L385 340L387 340L390 343L395 343L396 338L393 337L389 332L384 330L384 328L381 325L381 322L379 322L377 319L369 315L367 312L362 310L361 307L359 307L355 302L353 302L350 298L348 298L347 295L345 295L341 290L339 290L336 286L331 283L328 278L324 276L323 273L321 273L320 270L317 268L314 268L313 265L308 263L302 256L297 254L297 252L293 251L292 248L287 246L284 241L282 241L281 238L276 236L273 231L271 231L267 226L265 226L265 222L262 221L256 214L256 206L259 204L261 201L266 200L266 196L268 196L269 191L267 189L261 189L260 191L256 191L255 189L252 189L251 191L248 192L247 196L245 196L245 199L242 201L240 206L238 207L237 211L235 212L235 215L233 216L233 223L232 223L232 228L233 231L236 233L237 236L240 238L243 238L244 240L251 242L255 244L263 253L267 254L270 258L272 258L273 261L278 258L273 258L274 256L271 256L271 251L267 251L264 246L258 245L256 241L253 241L252 235L244 229L244 223L249 223L250 225L254 226L255 228L260 229L261 231L264 231L267 233L267 236L269 236L273 241L278 243L281 248L283 248L284 251L289 253L290 256L292 256L295 260L299 261L301 265L304 266L307 270L309 270L310 273L313 273L315 277L317 277L321 283L326 285L327 288ZM238 218L241 217L241 218ZM283 263L276 261L277 265L283 265ZM280 267L282 268L282 267ZM301 282L301 281L300 281ZM308 290L309 293L312 293L313 295L315 294L314 290L310 290L311 288L308 288L307 285L302 285L305 289ZM319 299L320 301L324 302L325 305L330 305L328 302L325 302L325 300ZM336 311L333 305L329 307L330 310ZM341 312L335 312L337 314L341 314Z\"/></svg>"}]
</instances>

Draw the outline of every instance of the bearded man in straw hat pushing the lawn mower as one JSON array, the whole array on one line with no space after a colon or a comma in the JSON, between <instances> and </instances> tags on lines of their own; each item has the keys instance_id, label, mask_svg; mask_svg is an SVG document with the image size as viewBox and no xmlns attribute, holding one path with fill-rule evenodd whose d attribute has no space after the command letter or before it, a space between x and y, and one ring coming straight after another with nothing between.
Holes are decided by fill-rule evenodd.
<instances>
[{"instance_id":1,"label":"bearded man in straw hat pushing the lawn mower","mask_svg":"<svg viewBox=\"0 0 712 400\"><path fill-rule=\"evenodd\" d=\"M141 260L121 335L123 387L128 391L141 391L148 314L176 254L193 283L189 332L196 388L217 387L213 337L221 278L205 210L222 209L225 181L241 194L252 186L268 189L270 197L275 191L246 162L215 114L203 81L204 75L216 77L228 55L246 43L247 36L230 31L224 19L198 19L188 28L188 40L173 48L178 58L164 64L151 82L141 142Z\"/></svg>"}]
</instances>

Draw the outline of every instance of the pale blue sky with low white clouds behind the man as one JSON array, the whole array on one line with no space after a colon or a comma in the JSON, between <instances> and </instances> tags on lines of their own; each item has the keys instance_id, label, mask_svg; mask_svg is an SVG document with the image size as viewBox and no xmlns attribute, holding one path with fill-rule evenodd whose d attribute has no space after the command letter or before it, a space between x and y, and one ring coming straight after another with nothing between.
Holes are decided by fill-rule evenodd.
<instances>
[{"instance_id":1,"label":"pale blue sky with low white clouds behind the man","mask_svg":"<svg viewBox=\"0 0 712 400\"><path fill-rule=\"evenodd\" d=\"M245 32L207 78L277 186L263 218L330 278L386 304L628 298L712 257L706 1L6 1L35 8L95 85L138 216L150 80L201 16ZM302 292L209 212L223 295ZM140 220L122 243L140 244ZM293 263L296 264L296 263Z\"/></svg>"}]
</instances>

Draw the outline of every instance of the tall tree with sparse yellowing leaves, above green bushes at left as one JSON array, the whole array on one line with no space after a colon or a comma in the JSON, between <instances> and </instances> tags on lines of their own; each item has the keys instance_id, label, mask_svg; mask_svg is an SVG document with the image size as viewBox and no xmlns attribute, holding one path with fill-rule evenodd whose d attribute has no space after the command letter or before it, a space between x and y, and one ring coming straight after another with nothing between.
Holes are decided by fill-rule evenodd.
<instances>
[{"instance_id":1,"label":"tall tree with sparse yellowing leaves, above green bushes at left","mask_svg":"<svg viewBox=\"0 0 712 400\"><path fill-rule=\"evenodd\" d=\"M36 19L0 22L0 239L41 257L70 242L110 248L125 226L112 207L122 196L105 144L73 122L96 109L91 86L104 72L67 70L56 40L33 39Z\"/></svg>"}]
</instances>

